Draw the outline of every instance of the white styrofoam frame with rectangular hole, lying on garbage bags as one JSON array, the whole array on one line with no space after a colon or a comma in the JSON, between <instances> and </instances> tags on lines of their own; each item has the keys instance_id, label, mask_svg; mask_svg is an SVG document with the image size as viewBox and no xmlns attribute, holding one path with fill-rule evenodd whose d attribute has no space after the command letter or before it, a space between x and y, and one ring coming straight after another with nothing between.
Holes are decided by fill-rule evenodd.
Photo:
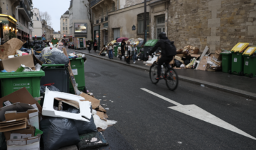
<instances>
[{"instance_id":1,"label":"white styrofoam frame with rectangular hole, lying on garbage bags","mask_svg":"<svg viewBox=\"0 0 256 150\"><path fill-rule=\"evenodd\" d=\"M78 102L80 113L68 113L68 112L54 110L53 109L54 98L74 100ZM81 96L75 96L69 93L50 91L46 87L46 95L43 102L42 114L50 117L64 117L72 120L81 120L81 121L90 122L90 119L92 117L92 113L90 110L91 103L89 101L80 101L80 100L85 100L85 98L82 98Z\"/></svg>"}]
</instances>

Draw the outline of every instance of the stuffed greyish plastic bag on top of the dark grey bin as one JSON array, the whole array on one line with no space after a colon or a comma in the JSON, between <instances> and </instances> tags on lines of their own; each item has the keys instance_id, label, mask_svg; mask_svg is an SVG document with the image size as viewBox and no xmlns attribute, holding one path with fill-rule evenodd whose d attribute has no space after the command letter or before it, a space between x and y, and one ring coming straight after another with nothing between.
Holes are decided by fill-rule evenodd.
<instances>
[{"instance_id":1,"label":"stuffed greyish plastic bag on top of the dark grey bin","mask_svg":"<svg viewBox=\"0 0 256 150\"><path fill-rule=\"evenodd\" d=\"M46 64L68 64L69 59L65 56L65 54L61 52L51 52L43 55L43 59L45 59Z\"/></svg>"}]
</instances>

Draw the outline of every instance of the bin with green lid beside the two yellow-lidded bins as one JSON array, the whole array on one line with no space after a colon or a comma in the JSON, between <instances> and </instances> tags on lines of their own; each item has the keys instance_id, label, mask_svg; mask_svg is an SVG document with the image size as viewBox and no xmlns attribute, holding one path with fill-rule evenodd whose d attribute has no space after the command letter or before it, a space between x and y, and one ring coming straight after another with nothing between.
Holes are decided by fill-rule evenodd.
<instances>
[{"instance_id":1,"label":"bin with green lid beside the two yellow-lidded bins","mask_svg":"<svg viewBox=\"0 0 256 150\"><path fill-rule=\"evenodd\" d=\"M231 52L221 52L222 57L222 71L225 73L228 73L228 71L231 71L231 64L232 64L232 53Z\"/></svg>"}]
</instances>

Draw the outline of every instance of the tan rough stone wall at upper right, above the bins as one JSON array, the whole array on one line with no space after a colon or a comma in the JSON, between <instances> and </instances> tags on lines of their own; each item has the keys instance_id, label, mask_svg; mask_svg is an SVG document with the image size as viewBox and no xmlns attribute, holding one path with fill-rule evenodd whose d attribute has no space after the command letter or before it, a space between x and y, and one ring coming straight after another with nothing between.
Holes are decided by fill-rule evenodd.
<instances>
[{"instance_id":1,"label":"tan rough stone wall at upper right, above the bins","mask_svg":"<svg viewBox=\"0 0 256 150\"><path fill-rule=\"evenodd\" d=\"M256 0L170 0L168 37L176 47L231 50L256 45Z\"/></svg>"}]
</instances>

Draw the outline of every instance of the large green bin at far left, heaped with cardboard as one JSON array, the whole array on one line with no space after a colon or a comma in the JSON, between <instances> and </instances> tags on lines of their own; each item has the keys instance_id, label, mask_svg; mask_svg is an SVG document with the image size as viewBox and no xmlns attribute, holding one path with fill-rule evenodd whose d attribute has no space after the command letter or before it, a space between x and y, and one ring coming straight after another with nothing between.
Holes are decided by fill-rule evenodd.
<instances>
[{"instance_id":1,"label":"large green bin at far left, heaped with cardboard","mask_svg":"<svg viewBox=\"0 0 256 150\"><path fill-rule=\"evenodd\" d=\"M33 98L40 97L40 81L45 76L43 70L0 73L1 97L25 87Z\"/></svg>"}]
</instances>

